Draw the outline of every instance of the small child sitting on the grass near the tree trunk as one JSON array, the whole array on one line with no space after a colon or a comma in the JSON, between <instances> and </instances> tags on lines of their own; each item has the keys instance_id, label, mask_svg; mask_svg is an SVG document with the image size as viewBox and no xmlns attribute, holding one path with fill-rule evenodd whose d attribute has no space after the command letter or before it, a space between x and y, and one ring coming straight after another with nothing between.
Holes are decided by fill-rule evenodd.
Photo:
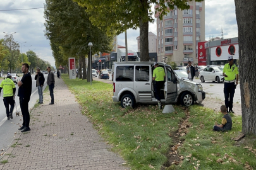
<instances>
[{"instance_id":1,"label":"small child sitting on the grass near the tree trunk","mask_svg":"<svg viewBox=\"0 0 256 170\"><path fill-rule=\"evenodd\" d=\"M225 105L221 106L221 113L224 115L221 120L221 125L217 124L215 122L215 125L213 127L213 131L228 131L232 128L232 119L231 116L227 113L227 108Z\"/></svg>"}]
</instances>

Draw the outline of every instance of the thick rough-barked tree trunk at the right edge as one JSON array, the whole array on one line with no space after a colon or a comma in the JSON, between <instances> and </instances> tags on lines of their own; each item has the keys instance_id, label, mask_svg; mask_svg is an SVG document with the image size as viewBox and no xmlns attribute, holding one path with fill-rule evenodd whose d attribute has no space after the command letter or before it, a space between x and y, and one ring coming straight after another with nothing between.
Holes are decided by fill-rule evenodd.
<instances>
[{"instance_id":1,"label":"thick rough-barked tree trunk at the right edge","mask_svg":"<svg viewBox=\"0 0 256 170\"><path fill-rule=\"evenodd\" d=\"M242 132L256 135L256 3L235 0L238 24Z\"/></svg>"}]
</instances>

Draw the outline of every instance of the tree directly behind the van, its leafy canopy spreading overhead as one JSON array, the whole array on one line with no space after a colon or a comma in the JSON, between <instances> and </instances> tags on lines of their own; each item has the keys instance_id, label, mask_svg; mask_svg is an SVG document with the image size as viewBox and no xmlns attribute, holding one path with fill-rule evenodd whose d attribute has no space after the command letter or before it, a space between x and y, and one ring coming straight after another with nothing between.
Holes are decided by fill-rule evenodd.
<instances>
[{"instance_id":1,"label":"tree directly behind the van, its leafy canopy spreading overhead","mask_svg":"<svg viewBox=\"0 0 256 170\"><path fill-rule=\"evenodd\" d=\"M149 61L149 23L154 22L151 6L157 4L155 13L162 16L174 8L190 9L187 1L166 0L140 0L140 1L115 1L115 0L73 0L86 6L90 14L90 21L100 28L116 30L117 34L129 28L140 28L140 60ZM192 1L192 0L188 0ZM202 2L203 0L195 0Z\"/></svg>"}]
</instances>

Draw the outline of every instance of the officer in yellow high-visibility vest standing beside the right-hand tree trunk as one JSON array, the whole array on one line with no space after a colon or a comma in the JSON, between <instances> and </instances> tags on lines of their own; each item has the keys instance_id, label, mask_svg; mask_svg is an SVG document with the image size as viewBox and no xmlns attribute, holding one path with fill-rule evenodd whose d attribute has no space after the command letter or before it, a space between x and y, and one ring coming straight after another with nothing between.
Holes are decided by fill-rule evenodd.
<instances>
[{"instance_id":1,"label":"officer in yellow high-visibility vest standing beside the right-hand tree trunk","mask_svg":"<svg viewBox=\"0 0 256 170\"><path fill-rule=\"evenodd\" d=\"M233 55L228 55L228 63L224 65L224 96L225 105L228 112L234 113L233 98L235 94L236 85L238 84L238 67L233 63Z\"/></svg>"}]
</instances>

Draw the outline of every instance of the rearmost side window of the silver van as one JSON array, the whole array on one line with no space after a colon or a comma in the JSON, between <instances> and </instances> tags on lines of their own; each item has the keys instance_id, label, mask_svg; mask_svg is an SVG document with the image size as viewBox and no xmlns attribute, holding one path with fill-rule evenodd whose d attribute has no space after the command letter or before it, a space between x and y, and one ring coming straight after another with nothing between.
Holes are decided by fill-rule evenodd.
<instances>
[{"instance_id":1,"label":"rearmost side window of the silver van","mask_svg":"<svg viewBox=\"0 0 256 170\"><path fill-rule=\"evenodd\" d=\"M116 81L133 81L134 66L116 67Z\"/></svg>"}]
</instances>

